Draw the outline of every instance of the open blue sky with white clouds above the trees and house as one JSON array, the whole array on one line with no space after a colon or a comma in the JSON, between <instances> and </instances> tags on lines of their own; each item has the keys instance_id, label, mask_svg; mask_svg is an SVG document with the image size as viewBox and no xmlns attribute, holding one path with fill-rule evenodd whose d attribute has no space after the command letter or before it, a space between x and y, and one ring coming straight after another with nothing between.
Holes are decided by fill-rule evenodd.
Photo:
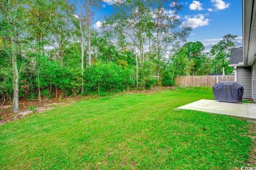
<instances>
[{"instance_id":1,"label":"open blue sky with white clouds above the trees and house","mask_svg":"<svg viewBox=\"0 0 256 170\"><path fill-rule=\"evenodd\" d=\"M113 12L113 0L103 0L103 7L95 10L93 27ZM122 0L114 0L122 1ZM242 45L242 0L180 0L183 9L178 13L183 25L193 27L187 41L201 41L205 50L226 34L237 35L237 46ZM168 11L168 9L166 9Z\"/></svg>"}]
</instances>

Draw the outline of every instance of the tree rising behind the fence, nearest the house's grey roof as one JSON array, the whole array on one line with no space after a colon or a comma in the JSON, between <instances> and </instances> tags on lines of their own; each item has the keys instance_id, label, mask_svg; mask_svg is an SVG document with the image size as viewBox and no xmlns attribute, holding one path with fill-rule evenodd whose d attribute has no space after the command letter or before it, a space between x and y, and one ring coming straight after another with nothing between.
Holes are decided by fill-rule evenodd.
<instances>
[{"instance_id":1,"label":"tree rising behind the fence, nearest the house's grey roof","mask_svg":"<svg viewBox=\"0 0 256 170\"><path fill-rule=\"evenodd\" d=\"M210 53L213 56L213 62L217 66L222 67L222 75L225 75L225 68L228 67L228 58L230 56L230 48L236 46L234 42L237 35L227 34L219 41L219 43L213 45Z\"/></svg>"}]
</instances>

